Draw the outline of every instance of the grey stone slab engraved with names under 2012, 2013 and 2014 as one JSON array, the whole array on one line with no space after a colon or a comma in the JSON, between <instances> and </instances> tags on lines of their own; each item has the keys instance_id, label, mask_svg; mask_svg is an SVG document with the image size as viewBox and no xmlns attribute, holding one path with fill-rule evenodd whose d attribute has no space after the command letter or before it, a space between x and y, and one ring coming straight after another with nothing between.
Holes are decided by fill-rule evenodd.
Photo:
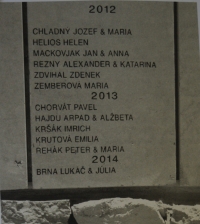
<instances>
[{"instance_id":1,"label":"grey stone slab engraved with names under 2012, 2013 and 2014","mask_svg":"<svg viewBox=\"0 0 200 224\"><path fill-rule=\"evenodd\" d=\"M176 182L172 3L28 3L33 188Z\"/></svg>"}]
</instances>

